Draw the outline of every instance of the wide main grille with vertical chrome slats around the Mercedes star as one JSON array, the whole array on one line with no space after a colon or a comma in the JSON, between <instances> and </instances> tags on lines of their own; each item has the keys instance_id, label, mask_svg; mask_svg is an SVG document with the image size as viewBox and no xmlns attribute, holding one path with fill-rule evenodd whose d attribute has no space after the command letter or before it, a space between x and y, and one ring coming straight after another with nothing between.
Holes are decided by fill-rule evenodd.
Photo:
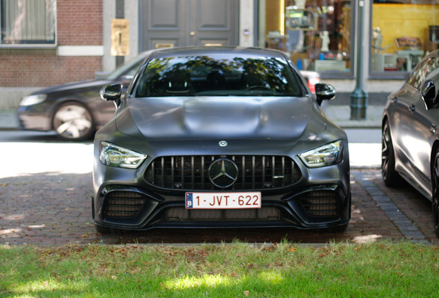
<instances>
[{"instance_id":1,"label":"wide main grille with vertical chrome slats around the Mercedes star","mask_svg":"<svg viewBox=\"0 0 439 298\"><path fill-rule=\"evenodd\" d=\"M302 177L290 157L234 155L158 157L145 172L148 183L173 190L217 190L211 183L208 168L217 159L233 160L238 168L235 183L227 190L264 190L291 186Z\"/></svg>"}]
</instances>

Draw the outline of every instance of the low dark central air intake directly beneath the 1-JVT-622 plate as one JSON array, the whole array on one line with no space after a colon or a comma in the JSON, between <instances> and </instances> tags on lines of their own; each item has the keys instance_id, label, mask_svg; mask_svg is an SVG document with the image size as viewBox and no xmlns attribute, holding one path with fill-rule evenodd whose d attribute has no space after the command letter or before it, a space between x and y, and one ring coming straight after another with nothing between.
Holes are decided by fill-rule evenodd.
<instances>
[{"instance_id":1,"label":"low dark central air intake directly beneath the 1-JVT-622 plate","mask_svg":"<svg viewBox=\"0 0 439 298\"><path fill-rule=\"evenodd\" d=\"M260 209L204 210L173 207L166 210L166 221L279 221L281 211L275 207Z\"/></svg>"}]
</instances>

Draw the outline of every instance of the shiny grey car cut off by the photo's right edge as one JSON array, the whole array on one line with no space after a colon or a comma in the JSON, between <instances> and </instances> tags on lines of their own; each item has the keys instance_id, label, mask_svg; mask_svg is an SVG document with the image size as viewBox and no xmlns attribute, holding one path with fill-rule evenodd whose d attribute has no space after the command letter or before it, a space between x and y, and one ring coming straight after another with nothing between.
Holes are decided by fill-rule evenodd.
<instances>
[{"instance_id":1,"label":"shiny grey car cut off by the photo's right edge","mask_svg":"<svg viewBox=\"0 0 439 298\"><path fill-rule=\"evenodd\" d=\"M439 237L439 50L411 72L387 99L382 118L382 178L398 186L401 177L432 202Z\"/></svg>"}]
</instances>

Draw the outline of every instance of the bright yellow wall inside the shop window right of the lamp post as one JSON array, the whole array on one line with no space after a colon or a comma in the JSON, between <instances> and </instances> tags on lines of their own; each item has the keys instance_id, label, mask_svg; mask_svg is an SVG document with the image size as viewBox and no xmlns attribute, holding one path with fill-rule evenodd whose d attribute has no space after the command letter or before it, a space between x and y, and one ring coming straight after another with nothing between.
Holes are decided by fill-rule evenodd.
<instances>
[{"instance_id":1,"label":"bright yellow wall inside the shop window right of the lamp post","mask_svg":"<svg viewBox=\"0 0 439 298\"><path fill-rule=\"evenodd\" d=\"M439 6L420 4L373 4L372 27L380 27L384 52L400 50L395 39L418 37L425 45L429 26L439 26Z\"/></svg>"}]
</instances>

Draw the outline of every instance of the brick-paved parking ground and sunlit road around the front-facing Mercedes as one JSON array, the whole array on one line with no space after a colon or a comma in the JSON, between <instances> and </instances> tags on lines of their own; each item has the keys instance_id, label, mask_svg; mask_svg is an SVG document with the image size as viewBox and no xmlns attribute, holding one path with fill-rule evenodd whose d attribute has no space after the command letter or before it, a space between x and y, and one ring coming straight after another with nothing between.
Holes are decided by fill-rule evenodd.
<instances>
[{"instance_id":1,"label":"brick-paved parking ground and sunlit road around the front-facing Mercedes","mask_svg":"<svg viewBox=\"0 0 439 298\"><path fill-rule=\"evenodd\" d=\"M352 219L346 232L157 229L124 235L100 235L92 225L91 141L65 143L51 133L0 132L0 244L186 244L235 239L249 243L288 239L304 244L411 239L438 244L431 203L407 185L396 189L383 185L378 170L379 130L347 132L352 135L351 163L358 165L351 170Z\"/></svg>"}]
</instances>

